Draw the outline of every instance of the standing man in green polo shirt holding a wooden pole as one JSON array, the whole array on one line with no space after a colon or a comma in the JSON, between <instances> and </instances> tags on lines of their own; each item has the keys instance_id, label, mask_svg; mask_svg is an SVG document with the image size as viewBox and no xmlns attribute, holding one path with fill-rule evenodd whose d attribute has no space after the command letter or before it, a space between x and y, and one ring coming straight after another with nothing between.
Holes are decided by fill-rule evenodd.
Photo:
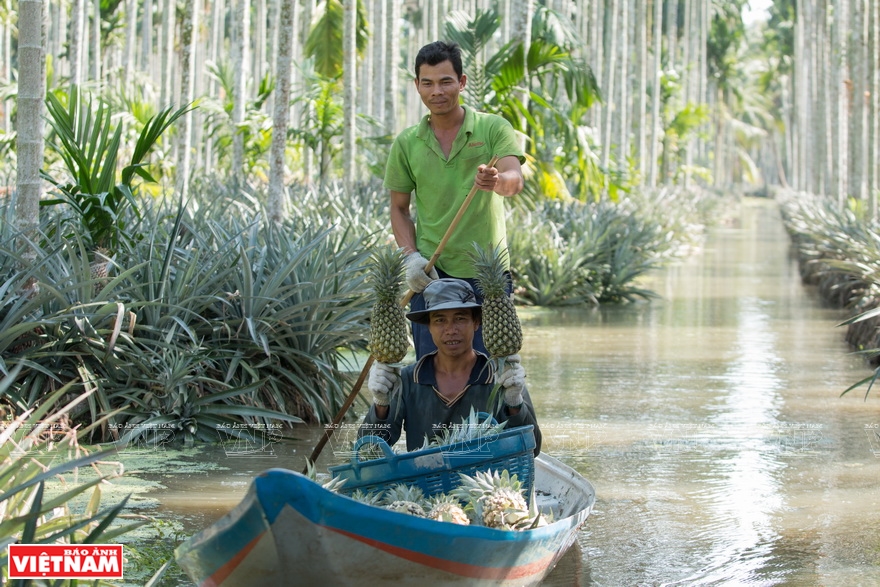
<instances>
[{"instance_id":1,"label":"standing man in green polo shirt holding a wooden pole","mask_svg":"<svg viewBox=\"0 0 880 587\"><path fill-rule=\"evenodd\" d=\"M429 112L395 139L385 169L385 188L391 192L391 229L407 254L407 285L416 292L411 310L418 312L425 308L421 291L433 279L455 277L475 286L470 261L473 243L487 250L497 246L506 250L502 197L522 191L525 157L509 122L461 104L467 76L458 45L436 41L422 47L415 74L416 89ZM498 155L498 162L487 167L493 155ZM447 242L436 269L426 274L428 259L474 185L482 192ZM410 209L413 194L415 221ZM511 289L509 285L508 293ZM436 349L421 324L413 324L413 342L417 357ZM474 348L486 352L479 331Z\"/></svg>"}]
</instances>

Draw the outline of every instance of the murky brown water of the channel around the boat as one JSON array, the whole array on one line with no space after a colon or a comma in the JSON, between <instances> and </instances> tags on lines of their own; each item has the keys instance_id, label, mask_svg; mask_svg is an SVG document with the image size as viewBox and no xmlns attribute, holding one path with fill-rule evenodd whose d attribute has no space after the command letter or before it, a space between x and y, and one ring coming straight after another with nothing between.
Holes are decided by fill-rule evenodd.
<instances>
[{"instance_id":1,"label":"murky brown water of the channel around the boat","mask_svg":"<svg viewBox=\"0 0 880 587\"><path fill-rule=\"evenodd\" d=\"M869 370L801 285L775 204L733 217L650 277L660 299L522 312L544 450L597 491L546 585L880 585L880 389L839 397ZM320 432L205 449L217 470L151 497L202 528L255 473L301 470Z\"/></svg>"}]
</instances>

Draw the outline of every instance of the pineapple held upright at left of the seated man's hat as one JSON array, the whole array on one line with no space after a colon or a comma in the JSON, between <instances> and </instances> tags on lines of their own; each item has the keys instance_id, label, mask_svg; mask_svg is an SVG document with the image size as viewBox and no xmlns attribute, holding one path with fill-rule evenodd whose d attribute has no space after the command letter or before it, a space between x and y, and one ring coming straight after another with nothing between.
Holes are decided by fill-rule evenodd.
<instances>
[{"instance_id":1,"label":"pineapple held upright at left of the seated man's hat","mask_svg":"<svg viewBox=\"0 0 880 587\"><path fill-rule=\"evenodd\" d=\"M370 280L376 302L370 320L370 352L381 363L399 363L409 348L406 315L400 305L403 255L382 249L373 254Z\"/></svg>"}]
</instances>

